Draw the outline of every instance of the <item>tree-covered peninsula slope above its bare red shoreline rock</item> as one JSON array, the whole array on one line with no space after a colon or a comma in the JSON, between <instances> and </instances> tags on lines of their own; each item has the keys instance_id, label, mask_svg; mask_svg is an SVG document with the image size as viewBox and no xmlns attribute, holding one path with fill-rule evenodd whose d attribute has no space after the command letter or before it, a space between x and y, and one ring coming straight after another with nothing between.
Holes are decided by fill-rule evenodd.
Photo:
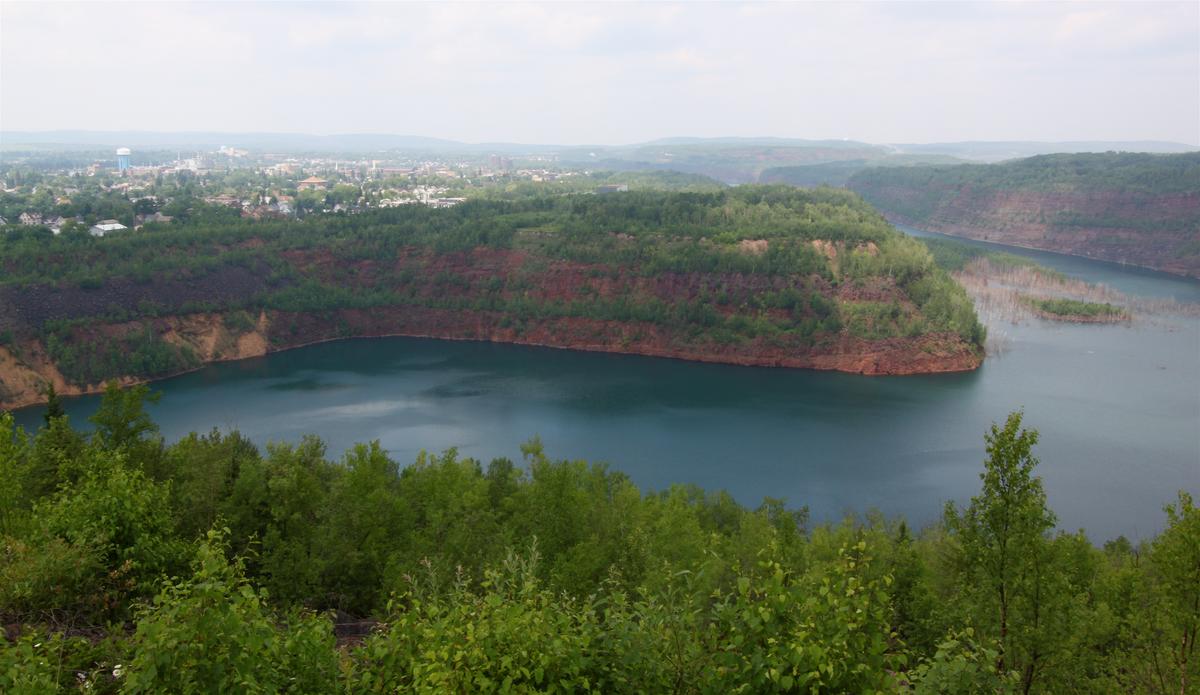
<instances>
[{"instance_id":1,"label":"tree-covered peninsula slope above its bare red shoreline rock","mask_svg":"<svg viewBox=\"0 0 1200 695\"><path fill-rule=\"evenodd\" d=\"M0 331L41 340L80 384L194 364L154 331L118 338L90 325L205 311L408 306L494 312L518 329L583 317L778 349L934 332L983 344L966 293L847 191L510 193L300 221L200 208L103 239L11 230Z\"/></svg>"}]
</instances>

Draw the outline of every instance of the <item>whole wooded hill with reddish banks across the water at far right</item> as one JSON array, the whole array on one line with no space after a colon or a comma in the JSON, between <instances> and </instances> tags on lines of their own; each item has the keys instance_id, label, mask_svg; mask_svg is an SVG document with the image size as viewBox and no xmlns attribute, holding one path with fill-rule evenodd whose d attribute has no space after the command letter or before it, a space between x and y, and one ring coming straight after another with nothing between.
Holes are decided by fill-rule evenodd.
<instances>
[{"instance_id":1,"label":"whole wooded hill with reddish banks across the water at far right","mask_svg":"<svg viewBox=\"0 0 1200 695\"><path fill-rule=\"evenodd\" d=\"M1200 277L1200 152L877 167L847 185L895 222Z\"/></svg>"}]
</instances>

